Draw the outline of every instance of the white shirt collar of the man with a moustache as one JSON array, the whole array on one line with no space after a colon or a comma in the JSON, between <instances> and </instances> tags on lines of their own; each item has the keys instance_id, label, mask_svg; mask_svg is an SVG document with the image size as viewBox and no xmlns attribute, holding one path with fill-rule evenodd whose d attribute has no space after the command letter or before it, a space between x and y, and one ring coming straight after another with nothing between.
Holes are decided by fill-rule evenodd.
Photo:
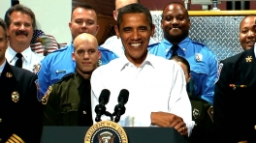
<instances>
[{"instance_id":1,"label":"white shirt collar of the man with a moustache","mask_svg":"<svg viewBox=\"0 0 256 143\"><path fill-rule=\"evenodd\" d=\"M9 46L7 48L7 52L9 53L6 55L7 58L10 59L10 61L14 60L14 58L16 57L16 51L11 46ZM26 62L30 62L32 60L32 55L31 55L32 52L33 51L31 50L30 46L28 46L28 48L26 48L24 51L21 52Z\"/></svg>"}]
</instances>

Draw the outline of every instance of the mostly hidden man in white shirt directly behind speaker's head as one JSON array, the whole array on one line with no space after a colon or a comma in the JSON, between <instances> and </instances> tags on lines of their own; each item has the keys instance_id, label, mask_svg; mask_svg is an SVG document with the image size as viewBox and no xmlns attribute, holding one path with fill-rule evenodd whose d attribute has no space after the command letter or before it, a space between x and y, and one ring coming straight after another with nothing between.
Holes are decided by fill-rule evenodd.
<instances>
[{"instance_id":1,"label":"mostly hidden man in white shirt directly behind speaker's head","mask_svg":"<svg viewBox=\"0 0 256 143\"><path fill-rule=\"evenodd\" d=\"M113 18L117 20L118 11L120 11L124 6L134 3L140 4L140 0L115 0L115 11L112 12ZM153 43L156 42L153 40L153 38L150 38L148 45ZM121 40L117 38L117 36L110 37L101 46L111 50L118 57L124 57L124 47Z\"/></svg>"}]
</instances>

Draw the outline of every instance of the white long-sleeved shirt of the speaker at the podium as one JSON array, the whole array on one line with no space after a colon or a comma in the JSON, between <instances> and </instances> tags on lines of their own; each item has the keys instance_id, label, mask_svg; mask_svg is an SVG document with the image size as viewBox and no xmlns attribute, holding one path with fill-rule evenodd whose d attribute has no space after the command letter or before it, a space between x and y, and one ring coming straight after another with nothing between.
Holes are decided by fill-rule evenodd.
<instances>
[{"instance_id":1,"label":"white long-sleeved shirt of the speaker at the podium","mask_svg":"<svg viewBox=\"0 0 256 143\"><path fill-rule=\"evenodd\" d=\"M113 113L122 89L129 91L126 111L119 124L123 127L151 126L151 112L169 112L192 121L191 103L186 92L184 72L175 61L147 54L137 68L126 57L112 60L96 69L91 76L92 117L95 123L95 106L103 89L111 92L107 111ZM101 118L110 120L105 115ZM187 127L189 131L191 127ZM193 128L193 127L192 127Z\"/></svg>"}]
</instances>

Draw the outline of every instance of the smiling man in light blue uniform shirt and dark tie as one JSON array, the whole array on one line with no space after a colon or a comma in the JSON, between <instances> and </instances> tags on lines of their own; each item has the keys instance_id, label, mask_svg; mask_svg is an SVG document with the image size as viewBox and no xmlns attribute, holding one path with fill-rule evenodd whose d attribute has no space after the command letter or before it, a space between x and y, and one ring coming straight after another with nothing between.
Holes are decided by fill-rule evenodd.
<instances>
[{"instance_id":1,"label":"smiling man in light blue uniform shirt and dark tie","mask_svg":"<svg viewBox=\"0 0 256 143\"><path fill-rule=\"evenodd\" d=\"M184 57L191 66L191 81L195 83L190 91L194 91L192 93L196 97L208 100L212 104L214 83L218 79L218 62L206 45L190 40L190 25L188 12L182 4L173 2L167 5L161 20L164 40L148 50L166 59L174 55Z\"/></svg>"}]
</instances>

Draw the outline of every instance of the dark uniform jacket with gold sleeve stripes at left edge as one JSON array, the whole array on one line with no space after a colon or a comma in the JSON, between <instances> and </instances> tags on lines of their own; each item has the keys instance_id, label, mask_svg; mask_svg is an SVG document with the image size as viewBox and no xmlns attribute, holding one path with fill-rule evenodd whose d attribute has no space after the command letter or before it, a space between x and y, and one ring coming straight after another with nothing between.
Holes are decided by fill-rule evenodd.
<instances>
[{"instance_id":1,"label":"dark uniform jacket with gold sleeve stripes at left edge","mask_svg":"<svg viewBox=\"0 0 256 143\"><path fill-rule=\"evenodd\" d=\"M43 112L37 75L7 61L0 67L0 142L40 142Z\"/></svg>"}]
</instances>

